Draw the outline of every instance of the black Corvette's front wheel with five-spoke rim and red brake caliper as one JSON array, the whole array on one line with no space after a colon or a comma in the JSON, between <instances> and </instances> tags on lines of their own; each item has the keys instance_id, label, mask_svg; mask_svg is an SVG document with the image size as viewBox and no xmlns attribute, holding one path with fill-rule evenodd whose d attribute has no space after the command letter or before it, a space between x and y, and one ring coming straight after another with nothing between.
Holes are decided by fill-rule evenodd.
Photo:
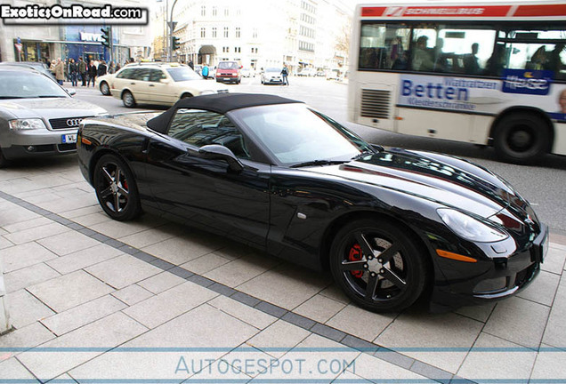
<instances>
[{"instance_id":1,"label":"black Corvette's front wheel with five-spoke rim and red brake caliper","mask_svg":"<svg viewBox=\"0 0 566 384\"><path fill-rule=\"evenodd\" d=\"M427 262L407 231L389 221L354 221L338 231L330 248L336 283L374 312L398 312L415 303L428 283Z\"/></svg>"}]
</instances>

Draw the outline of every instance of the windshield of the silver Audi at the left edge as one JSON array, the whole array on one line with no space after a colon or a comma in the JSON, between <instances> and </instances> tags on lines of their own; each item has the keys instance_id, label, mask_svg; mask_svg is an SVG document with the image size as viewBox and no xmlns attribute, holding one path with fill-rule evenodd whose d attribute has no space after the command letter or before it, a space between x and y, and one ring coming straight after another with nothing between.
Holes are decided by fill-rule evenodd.
<instances>
[{"instance_id":1,"label":"windshield of the silver Audi at the left edge","mask_svg":"<svg viewBox=\"0 0 566 384\"><path fill-rule=\"evenodd\" d=\"M0 99L69 97L52 79L27 71L0 71Z\"/></svg>"}]
</instances>

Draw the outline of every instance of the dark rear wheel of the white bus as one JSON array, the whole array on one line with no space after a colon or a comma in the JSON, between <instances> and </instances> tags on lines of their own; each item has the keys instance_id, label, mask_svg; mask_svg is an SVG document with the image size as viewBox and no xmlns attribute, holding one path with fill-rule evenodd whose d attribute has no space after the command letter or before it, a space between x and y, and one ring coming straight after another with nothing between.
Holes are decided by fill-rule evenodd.
<instances>
[{"instance_id":1,"label":"dark rear wheel of the white bus","mask_svg":"<svg viewBox=\"0 0 566 384\"><path fill-rule=\"evenodd\" d=\"M548 124L530 113L516 113L502 118L493 138L497 157L508 163L528 164L550 148Z\"/></svg>"}]
</instances>

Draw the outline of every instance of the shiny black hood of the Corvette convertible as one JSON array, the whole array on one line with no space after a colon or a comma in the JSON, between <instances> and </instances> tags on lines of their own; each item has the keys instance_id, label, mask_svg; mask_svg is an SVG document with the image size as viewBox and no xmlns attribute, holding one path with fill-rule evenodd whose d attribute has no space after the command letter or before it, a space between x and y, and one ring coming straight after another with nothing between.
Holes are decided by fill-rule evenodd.
<instances>
[{"instance_id":1,"label":"shiny black hood of the Corvette convertible","mask_svg":"<svg viewBox=\"0 0 566 384\"><path fill-rule=\"evenodd\" d=\"M486 219L512 202L527 204L485 168L439 154L392 148L350 163L312 167L309 171L395 189Z\"/></svg>"}]
</instances>

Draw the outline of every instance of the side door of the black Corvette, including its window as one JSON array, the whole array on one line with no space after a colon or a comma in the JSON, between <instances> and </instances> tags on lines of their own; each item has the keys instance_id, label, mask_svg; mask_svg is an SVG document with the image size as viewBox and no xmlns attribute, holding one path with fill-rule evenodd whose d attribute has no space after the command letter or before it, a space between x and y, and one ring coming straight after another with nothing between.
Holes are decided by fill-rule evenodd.
<instances>
[{"instance_id":1,"label":"side door of the black Corvette, including its window","mask_svg":"<svg viewBox=\"0 0 566 384\"><path fill-rule=\"evenodd\" d=\"M244 169L198 156L219 144L238 156ZM150 140L147 161L152 191L167 216L265 246L269 229L271 166L255 162L247 141L227 116L179 108L168 137Z\"/></svg>"}]
</instances>

